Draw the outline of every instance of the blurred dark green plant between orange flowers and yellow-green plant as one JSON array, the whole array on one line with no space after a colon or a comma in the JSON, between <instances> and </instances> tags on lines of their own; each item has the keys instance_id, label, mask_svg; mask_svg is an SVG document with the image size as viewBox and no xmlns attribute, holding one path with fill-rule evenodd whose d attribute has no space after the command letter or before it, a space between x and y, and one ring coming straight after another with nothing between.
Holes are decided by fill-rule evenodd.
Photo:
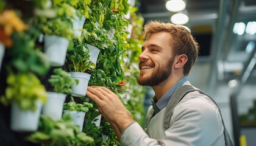
<instances>
[{"instance_id":1,"label":"blurred dark green plant between orange flowers and yellow-green plant","mask_svg":"<svg viewBox=\"0 0 256 146\"><path fill-rule=\"evenodd\" d=\"M40 46L35 45L39 34L35 27L30 27L29 30L21 33L14 33L15 43L7 52L7 57L10 58L7 65L20 72L31 71L38 75L46 74L50 67L49 61L40 51Z\"/></svg>"}]
</instances>

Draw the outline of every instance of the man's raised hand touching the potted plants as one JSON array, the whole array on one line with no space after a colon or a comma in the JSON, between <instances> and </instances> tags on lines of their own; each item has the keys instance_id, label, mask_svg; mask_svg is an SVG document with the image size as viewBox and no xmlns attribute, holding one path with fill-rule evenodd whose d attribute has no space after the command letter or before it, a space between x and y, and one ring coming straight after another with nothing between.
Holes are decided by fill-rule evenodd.
<instances>
[{"instance_id":1,"label":"man's raised hand touching the potted plants","mask_svg":"<svg viewBox=\"0 0 256 146\"><path fill-rule=\"evenodd\" d=\"M119 97L109 89L101 86L88 86L87 96L99 105L99 111L104 119L115 123L120 133L134 121Z\"/></svg>"}]
</instances>

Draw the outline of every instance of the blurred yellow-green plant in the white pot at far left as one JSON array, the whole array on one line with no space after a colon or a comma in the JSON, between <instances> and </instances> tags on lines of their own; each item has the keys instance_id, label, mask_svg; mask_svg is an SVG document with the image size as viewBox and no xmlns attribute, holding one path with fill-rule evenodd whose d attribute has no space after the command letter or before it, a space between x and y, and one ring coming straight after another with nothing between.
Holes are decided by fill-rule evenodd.
<instances>
[{"instance_id":1,"label":"blurred yellow-green plant in the white pot at far left","mask_svg":"<svg viewBox=\"0 0 256 146\"><path fill-rule=\"evenodd\" d=\"M0 101L5 105L16 103L24 110L35 111L35 102L40 100L46 102L46 89L41 85L40 80L32 72L13 74L9 72L7 77L7 88L5 96L1 96Z\"/></svg>"}]
</instances>

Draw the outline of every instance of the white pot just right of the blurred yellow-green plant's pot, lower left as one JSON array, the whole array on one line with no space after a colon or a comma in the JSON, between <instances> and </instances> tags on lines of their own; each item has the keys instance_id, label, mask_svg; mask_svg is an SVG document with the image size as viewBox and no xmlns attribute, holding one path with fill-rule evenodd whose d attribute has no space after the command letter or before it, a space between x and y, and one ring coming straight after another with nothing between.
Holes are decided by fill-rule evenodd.
<instances>
[{"instance_id":1,"label":"white pot just right of the blurred yellow-green plant's pot, lower left","mask_svg":"<svg viewBox=\"0 0 256 146\"><path fill-rule=\"evenodd\" d=\"M63 104L66 94L58 92L46 92L47 102L43 106L42 114L51 117L53 120L62 119Z\"/></svg>"}]
</instances>

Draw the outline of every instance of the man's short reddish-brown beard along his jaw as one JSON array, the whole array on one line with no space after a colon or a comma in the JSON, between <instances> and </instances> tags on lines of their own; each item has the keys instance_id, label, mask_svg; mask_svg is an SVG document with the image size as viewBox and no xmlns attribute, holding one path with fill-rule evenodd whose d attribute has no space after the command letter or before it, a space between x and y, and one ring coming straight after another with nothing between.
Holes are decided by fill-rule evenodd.
<instances>
[{"instance_id":1,"label":"man's short reddish-brown beard along his jaw","mask_svg":"<svg viewBox=\"0 0 256 146\"><path fill-rule=\"evenodd\" d=\"M149 78L143 78L141 75L137 78L137 83L141 86L156 86L164 82L171 75L174 57L169 59L166 66L154 70Z\"/></svg>"}]
</instances>

